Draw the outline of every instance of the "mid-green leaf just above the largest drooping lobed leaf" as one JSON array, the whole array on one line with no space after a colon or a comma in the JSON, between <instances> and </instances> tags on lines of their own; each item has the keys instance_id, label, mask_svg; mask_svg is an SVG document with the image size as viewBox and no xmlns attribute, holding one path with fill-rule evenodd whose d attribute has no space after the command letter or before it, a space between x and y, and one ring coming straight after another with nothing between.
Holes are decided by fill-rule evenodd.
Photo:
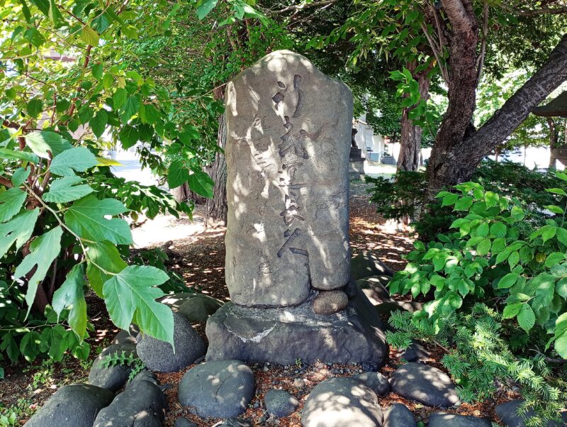
<instances>
[{"instance_id":1,"label":"mid-green leaf just above the largest drooping lobed leaf","mask_svg":"<svg viewBox=\"0 0 567 427\"><path fill-rule=\"evenodd\" d=\"M86 277L94 292L102 298L103 284L112 278L108 273L119 273L127 264L120 257L116 246L110 242L90 243L86 254Z\"/></svg>"}]
</instances>

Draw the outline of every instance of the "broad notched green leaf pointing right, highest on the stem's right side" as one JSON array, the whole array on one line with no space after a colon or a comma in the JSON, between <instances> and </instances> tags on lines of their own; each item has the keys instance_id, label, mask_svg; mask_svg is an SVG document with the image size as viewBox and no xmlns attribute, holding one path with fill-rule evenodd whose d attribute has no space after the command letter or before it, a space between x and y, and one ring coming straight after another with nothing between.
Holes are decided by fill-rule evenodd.
<instances>
[{"instance_id":1,"label":"broad notched green leaf pointing right, highest on the stem's right side","mask_svg":"<svg viewBox=\"0 0 567 427\"><path fill-rule=\"evenodd\" d=\"M133 241L128 223L120 218L105 218L123 214L127 210L116 199L99 200L95 196L86 196L65 211L65 223L74 233L87 240L108 240L115 245L129 245Z\"/></svg>"}]
</instances>

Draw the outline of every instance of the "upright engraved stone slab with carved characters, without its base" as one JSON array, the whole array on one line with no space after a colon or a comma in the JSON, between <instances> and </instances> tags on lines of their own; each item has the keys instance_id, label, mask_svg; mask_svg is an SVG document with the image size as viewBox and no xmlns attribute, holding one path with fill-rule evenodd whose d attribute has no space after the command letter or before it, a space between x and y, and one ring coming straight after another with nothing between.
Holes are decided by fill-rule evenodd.
<instances>
[{"instance_id":1,"label":"upright engraved stone slab with carved characters, without its base","mask_svg":"<svg viewBox=\"0 0 567 427\"><path fill-rule=\"evenodd\" d=\"M242 306L294 306L350 276L352 94L271 52L226 90L226 283Z\"/></svg>"}]
</instances>

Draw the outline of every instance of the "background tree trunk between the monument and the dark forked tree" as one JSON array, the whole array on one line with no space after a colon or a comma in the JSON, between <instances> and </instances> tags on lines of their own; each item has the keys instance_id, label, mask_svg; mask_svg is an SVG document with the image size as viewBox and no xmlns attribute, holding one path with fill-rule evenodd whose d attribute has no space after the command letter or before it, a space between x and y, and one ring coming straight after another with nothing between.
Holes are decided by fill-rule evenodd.
<instances>
[{"instance_id":1,"label":"background tree trunk between the monument and the dark forked tree","mask_svg":"<svg viewBox=\"0 0 567 427\"><path fill-rule=\"evenodd\" d=\"M429 73L431 69L428 67L427 70L423 70L415 74L415 69L417 67L416 62L408 63L408 70L412 73L412 76L417 79L417 83L420 87L420 98L427 100L429 98L430 91L430 77ZM401 121L401 137L400 137L400 154L398 155L398 170L410 170L416 171L420 167L420 148L421 148L421 126L417 126L412 123L409 118L410 111L414 109L415 106L406 107L403 109L402 121Z\"/></svg>"}]
</instances>

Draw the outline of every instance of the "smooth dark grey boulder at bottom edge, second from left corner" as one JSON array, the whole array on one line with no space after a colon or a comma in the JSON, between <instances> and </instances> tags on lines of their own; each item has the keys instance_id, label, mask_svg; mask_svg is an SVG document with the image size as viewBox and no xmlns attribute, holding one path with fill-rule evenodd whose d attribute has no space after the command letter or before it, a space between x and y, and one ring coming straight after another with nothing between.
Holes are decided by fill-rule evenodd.
<instances>
[{"instance_id":1,"label":"smooth dark grey boulder at bottom edge, second from left corner","mask_svg":"<svg viewBox=\"0 0 567 427\"><path fill-rule=\"evenodd\" d=\"M99 412L94 420L94 427L158 427L164 421L166 409L167 399L157 385L137 381Z\"/></svg>"}]
</instances>

